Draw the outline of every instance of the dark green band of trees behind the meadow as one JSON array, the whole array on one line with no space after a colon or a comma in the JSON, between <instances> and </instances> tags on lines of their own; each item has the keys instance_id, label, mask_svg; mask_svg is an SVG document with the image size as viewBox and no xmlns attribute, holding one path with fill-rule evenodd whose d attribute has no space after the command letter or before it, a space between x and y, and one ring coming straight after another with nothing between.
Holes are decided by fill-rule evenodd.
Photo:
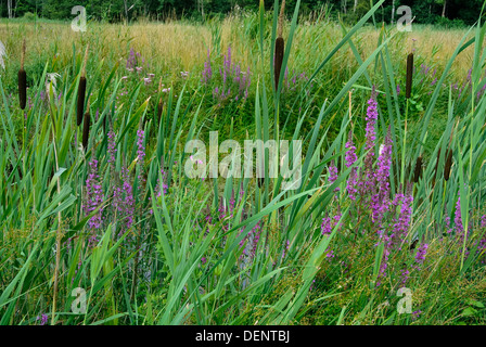
<instances>
[{"instance_id":1,"label":"dark green band of trees behind the meadow","mask_svg":"<svg viewBox=\"0 0 486 347\"><path fill-rule=\"evenodd\" d=\"M448 26L469 25L475 22L484 0L387 0L376 18L386 23L396 22L393 10L400 5L412 9L415 23L442 24ZM296 0L287 0L287 10L294 8ZM207 15L226 14L235 5L250 10L258 8L258 0L0 0L1 17L21 17L24 14L37 13L38 16L51 20L68 20L71 9L75 5L87 8L93 20L110 22L132 21L140 16L151 18L192 17L201 20ZM265 2L271 8L273 1ZM369 0L302 0L302 13L315 11L328 5L330 15L354 22L370 8Z\"/></svg>"}]
</instances>

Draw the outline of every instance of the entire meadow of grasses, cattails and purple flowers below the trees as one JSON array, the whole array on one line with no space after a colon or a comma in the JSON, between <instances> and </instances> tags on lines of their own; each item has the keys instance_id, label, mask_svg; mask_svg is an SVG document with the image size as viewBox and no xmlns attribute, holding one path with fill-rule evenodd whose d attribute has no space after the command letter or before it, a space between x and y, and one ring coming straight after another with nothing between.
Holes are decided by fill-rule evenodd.
<instances>
[{"instance_id":1,"label":"entire meadow of grasses, cattails and purple flowers below the trees","mask_svg":"<svg viewBox=\"0 0 486 347\"><path fill-rule=\"evenodd\" d=\"M0 20L0 324L485 324L486 27L381 2ZM216 131L264 177L208 176L253 157Z\"/></svg>"}]
</instances>

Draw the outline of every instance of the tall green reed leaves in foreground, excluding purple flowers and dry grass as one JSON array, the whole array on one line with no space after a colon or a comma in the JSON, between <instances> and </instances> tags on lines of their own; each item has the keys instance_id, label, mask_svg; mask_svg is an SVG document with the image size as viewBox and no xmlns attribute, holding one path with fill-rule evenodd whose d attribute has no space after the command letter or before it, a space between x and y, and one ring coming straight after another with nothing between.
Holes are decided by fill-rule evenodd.
<instances>
[{"instance_id":1,"label":"tall green reed leaves in foreground, excluding purple flowers and dry grass","mask_svg":"<svg viewBox=\"0 0 486 347\"><path fill-rule=\"evenodd\" d=\"M397 34L393 28L381 28L375 48L367 56L361 56L357 48L357 34L383 1L378 1L354 27L342 25L342 37L331 50L312 55L317 63L310 79L292 100L286 100L281 91L285 67L297 54L293 44L299 33L299 1L285 35L277 90L272 88L271 62L279 1L274 1L271 17L265 13L260 1L257 21L248 20L246 28L256 25L258 29L254 67L260 72L255 77L257 87L251 104L253 119L244 131L235 129L234 119L227 119L226 126L229 136L238 132L241 138L251 140L276 140L277 143L289 137L302 140L302 182L296 190L282 190L283 178L270 179L268 171L261 188L255 179L186 177L184 163L189 155L183 152L184 144L192 139L207 140L208 124L214 115L205 113L206 110L214 112L205 107L207 95L202 97L201 90L190 88L189 82L178 89L172 86L167 94L159 90L151 94L140 81L130 86L124 102L117 103L123 88L122 67L119 64L107 66L97 51L91 51L87 95L92 94L91 110L99 110L99 113L97 118L91 112L89 144L85 151L80 147L81 130L76 127L75 119L84 46L73 44L71 63L57 89L57 93L62 91L60 99L54 95L53 85L46 85L47 73L54 62L43 64L40 77L30 88L33 105L25 114L9 98L0 79L3 102L0 107L0 170L4 177L0 181L0 323L38 324L36 318L40 313L47 313L52 324L414 322L410 314L396 312L396 278L388 279L389 286L373 285L383 248L370 245L372 236L368 240L349 236L348 226L344 223L355 211L344 203L344 194L334 192L336 188L345 191L351 171L343 159L349 131L358 147L356 166L361 165L366 155L364 141L358 137L363 133L360 130L364 127L363 106L353 94L362 93L360 98L366 100L373 86L381 99L378 138L384 138L388 126L392 132L393 194L411 180L412 170L407 170L407 166L413 166L419 155L430 152L423 176L413 185L409 233L409 241L420 240L436 247L429 255L426 271L417 273L413 282L415 303L421 304L425 317L422 322L459 323L474 319L473 322L484 323L484 297L481 296L484 266L479 262L483 254L468 254L468 247L472 241L484 236L478 215L484 202L486 102L484 94L478 100L475 95L486 82L482 77L486 56L483 49L485 26L478 21L464 35L442 72L425 112L419 114L419 134L411 137L406 116L410 105L404 108L402 95L396 91L398 75L402 74L397 70L391 53ZM218 41L220 34L216 25L214 28L212 37ZM474 36L468 39L470 34ZM309 42L320 39L315 35ZM312 44L309 46L310 50ZM446 78L457 56L470 46L474 47L472 90L468 100L457 102ZM350 49L356 62L349 65L356 69L335 85L340 88L334 94L330 93L329 99L316 98L316 101L315 95L306 97L306 88L345 48ZM218 52L219 46L214 50ZM404 61L407 54L402 52ZM40 91L46 90L46 86L49 95L43 101ZM445 91L447 124L435 147L429 149L425 143L431 119ZM166 104L158 123L151 115L161 98ZM338 128L334 127L333 119ZM108 163L110 129L116 132L117 152L113 165ZM143 166L138 163L137 130L145 133ZM446 181L442 172L448 147L453 153L453 165L450 179ZM104 202L87 216L82 204L89 163L94 158ZM266 155L266 167L269 160ZM328 184L325 178L332 160L338 163L340 175ZM136 213L135 223L118 236L125 221L114 213L112 193L119 185L122 167L128 169L132 180ZM139 176L144 177L145 184L140 183ZM161 196L157 196L157 180L169 185L168 192ZM446 236L446 217L455 215L459 196L465 237L460 245L457 240L439 243ZM205 219L210 214L216 220L218 207L228 207L232 197L235 201L232 214L220 221ZM329 236L322 236L319 229L322 218L336 198L343 203L341 221ZM97 231L99 241L91 248L88 246L88 221L102 208L105 219ZM254 257L248 257L243 254L247 245L240 247L240 243L258 227L261 228L260 242ZM353 227L363 228L362 224ZM331 248L362 253L362 256L349 255L357 264L350 274L340 275L340 265L328 262L325 254ZM447 256L450 249L459 255L452 260ZM408 259L407 255L392 264L398 266L404 259ZM54 290L56 273L59 284ZM451 279L457 281L457 286L444 282ZM468 281L464 296L457 296ZM74 297L71 293L79 286L88 293L85 314L72 311ZM434 300L433 295L437 293L442 293L439 299ZM383 306L383 303L388 305ZM457 318L447 320L451 316Z\"/></svg>"}]
</instances>

